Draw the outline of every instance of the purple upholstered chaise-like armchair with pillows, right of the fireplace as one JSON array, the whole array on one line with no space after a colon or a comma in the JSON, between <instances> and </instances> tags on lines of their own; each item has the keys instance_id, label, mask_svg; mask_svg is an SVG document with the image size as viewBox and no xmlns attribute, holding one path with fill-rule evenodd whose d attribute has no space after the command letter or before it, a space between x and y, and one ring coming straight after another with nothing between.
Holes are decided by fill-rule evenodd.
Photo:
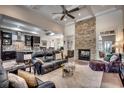
<instances>
[{"instance_id":1,"label":"purple upholstered chaise-like armchair with pillows, right of the fireplace","mask_svg":"<svg viewBox=\"0 0 124 93\"><path fill-rule=\"evenodd\" d=\"M119 72L119 67L121 65L121 55L114 54L110 61L102 60L91 60L89 67L94 71L104 71L104 72Z\"/></svg>"}]
</instances>

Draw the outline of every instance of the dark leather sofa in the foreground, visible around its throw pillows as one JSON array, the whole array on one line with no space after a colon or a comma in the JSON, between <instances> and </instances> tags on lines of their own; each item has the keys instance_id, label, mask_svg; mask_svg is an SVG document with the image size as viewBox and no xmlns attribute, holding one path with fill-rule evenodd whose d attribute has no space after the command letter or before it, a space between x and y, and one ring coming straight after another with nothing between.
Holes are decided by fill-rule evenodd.
<instances>
[{"instance_id":1,"label":"dark leather sofa in the foreground, visible around its throw pillows","mask_svg":"<svg viewBox=\"0 0 124 93\"><path fill-rule=\"evenodd\" d=\"M38 78L36 79L38 82L37 88L55 88L55 84L51 81L43 82ZM13 88L9 83L8 74L1 64L0 64L0 88Z\"/></svg>"}]
</instances>

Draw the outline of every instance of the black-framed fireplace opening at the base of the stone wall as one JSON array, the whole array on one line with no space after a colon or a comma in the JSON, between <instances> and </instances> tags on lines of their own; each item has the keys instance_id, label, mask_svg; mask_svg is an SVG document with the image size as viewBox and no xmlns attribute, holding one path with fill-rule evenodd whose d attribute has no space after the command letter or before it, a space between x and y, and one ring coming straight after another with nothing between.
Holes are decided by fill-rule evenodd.
<instances>
[{"instance_id":1,"label":"black-framed fireplace opening at the base of the stone wall","mask_svg":"<svg viewBox=\"0 0 124 93\"><path fill-rule=\"evenodd\" d=\"M90 61L90 49L78 49L78 59Z\"/></svg>"}]
</instances>

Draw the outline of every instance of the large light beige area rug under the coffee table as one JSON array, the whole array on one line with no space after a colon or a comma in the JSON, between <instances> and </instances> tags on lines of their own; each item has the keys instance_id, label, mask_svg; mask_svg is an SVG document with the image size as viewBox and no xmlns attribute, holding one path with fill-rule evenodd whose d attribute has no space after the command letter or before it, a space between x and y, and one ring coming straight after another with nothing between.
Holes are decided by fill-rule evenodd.
<instances>
[{"instance_id":1,"label":"large light beige area rug under the coffee table","mask_svg":"<svg viewBox=\"0 0 124 93\"><path fill-rule=\"evenodd\" d=\"M88 65L76 64L74 75L62 77L62 68L37 76L43 81L53 81L57 88L99 88L103 72L92 71Z\"/></svg>"}]
</instances>

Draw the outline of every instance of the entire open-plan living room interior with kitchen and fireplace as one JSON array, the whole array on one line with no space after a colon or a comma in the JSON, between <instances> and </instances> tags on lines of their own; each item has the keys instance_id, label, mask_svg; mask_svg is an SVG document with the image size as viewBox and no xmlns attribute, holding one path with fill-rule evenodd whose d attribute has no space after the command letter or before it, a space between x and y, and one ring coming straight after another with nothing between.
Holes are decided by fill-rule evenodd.
<instances>
[{"instance_id":1,"label":"entire open-plan living room interior with kitchen and fireplace","mask_svg":"<svg viewBox=\"0 0 124 93\"><path fill-rule=\"evenodd\" d=\"M0 21L0 87L123 88L123 5L1 5Z\"/></svg>"}]
</instances>

